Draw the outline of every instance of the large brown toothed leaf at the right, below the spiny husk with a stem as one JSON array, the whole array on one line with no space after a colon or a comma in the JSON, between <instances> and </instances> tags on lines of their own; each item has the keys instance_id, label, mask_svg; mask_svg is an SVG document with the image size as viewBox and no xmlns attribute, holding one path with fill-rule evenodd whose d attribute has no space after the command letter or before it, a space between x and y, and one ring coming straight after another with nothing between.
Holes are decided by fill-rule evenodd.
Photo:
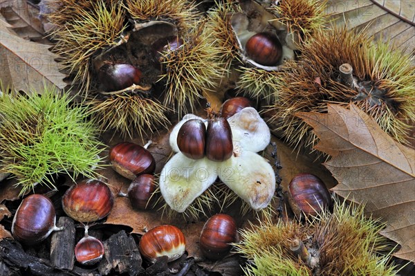
<instances>
[{"instance_id":1,"label":"large brown toothed leaf at the right, below the spiny husk with a stem","mask_svg":"<svg viewBox=\"0 0 415 276\"><path fill-rule=\"evenodd\" d=\"M381 234L401 248L394 256L415 260L415 150L382 131L356 105L328 105L328 113L297 113L320 142L315 149L332 156L324 165L339 184L336 194L358 203L382 218Z\"/></svg>"}]
</instances>

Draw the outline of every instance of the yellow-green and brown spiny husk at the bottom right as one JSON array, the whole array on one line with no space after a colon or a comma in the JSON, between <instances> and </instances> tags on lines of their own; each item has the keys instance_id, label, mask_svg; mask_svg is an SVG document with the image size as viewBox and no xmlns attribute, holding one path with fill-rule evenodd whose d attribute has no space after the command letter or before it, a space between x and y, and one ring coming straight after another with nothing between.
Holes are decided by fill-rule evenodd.
<instances>
[{"instance_id":1,"label":"yellow-green and brown spiny husk at the bottom right","mask_svg":"<svg viewBox=\"0 0 415 276\"><path fill-rule=\"evenodd\" d=\"M306 224L299 221L272 221L272 213L257 225L240 231L236 252L247 257L246 275L396 275L385 255L388 242L379 232L385 227L365 217L364 206L335 200L333 214L322 212ZM318 258L317 268L309 267L290 249L299 239Z\"/></svg>"}]
</instances>

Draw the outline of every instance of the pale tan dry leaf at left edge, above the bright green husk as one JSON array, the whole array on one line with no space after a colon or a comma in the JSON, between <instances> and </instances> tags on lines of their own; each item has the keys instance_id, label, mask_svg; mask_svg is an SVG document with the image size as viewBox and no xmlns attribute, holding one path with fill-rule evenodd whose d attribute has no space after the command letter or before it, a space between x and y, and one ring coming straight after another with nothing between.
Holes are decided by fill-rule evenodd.
<instances>
[{"instance_id":1,"label":"pale tan dry leaf at left edge, above the bright green husk","mask_svg":"<svg viewBox=\"0 0 415 276\"><path fill-rule=\"evenodd\" d=\"M35 90L38 93L44 86L55 85L59 89L66 86L57 55L51 53L50 46L30 42L14 35L6 24L0 22L0 75L2 85L17 91Z\"/></svg>"}]
</instances>

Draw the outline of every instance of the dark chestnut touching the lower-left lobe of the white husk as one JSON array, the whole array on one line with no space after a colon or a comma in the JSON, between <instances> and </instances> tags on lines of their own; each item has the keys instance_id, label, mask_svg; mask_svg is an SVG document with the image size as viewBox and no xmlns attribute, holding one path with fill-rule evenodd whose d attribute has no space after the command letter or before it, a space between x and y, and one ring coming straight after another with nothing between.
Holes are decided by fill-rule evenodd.
<instances>
[{"instance_id":1,"label":"dark chestnut touching the lower-left lobe of the white husk","mask_svg":"<svg viewBox=\"0 0 415 276\"><path fill-rule=\"evenodd\" d=\"M152 174L141 174L131 182L128 188L128 198L134 209L151 209L156 201L154 192L156 183Z\"/></svg>"}]
</instances>

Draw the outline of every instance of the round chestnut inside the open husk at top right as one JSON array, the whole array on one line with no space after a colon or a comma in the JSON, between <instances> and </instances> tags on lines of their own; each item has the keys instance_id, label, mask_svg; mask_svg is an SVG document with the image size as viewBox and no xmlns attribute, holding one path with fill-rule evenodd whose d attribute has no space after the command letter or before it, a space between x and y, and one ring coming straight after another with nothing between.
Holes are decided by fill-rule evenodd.
<instances>
[{"instance_id":1,"label":"round chestnut inside the open husk at top right","mask_svg":"<svg viewBox=\"0 0 415 276\"><path fill-rule=\"evenodd\" d=\"M257 33L246 42L246 55L264 66L275 66L282 57L282 45L272 33Z\"/></svg>"}]
</instances>

